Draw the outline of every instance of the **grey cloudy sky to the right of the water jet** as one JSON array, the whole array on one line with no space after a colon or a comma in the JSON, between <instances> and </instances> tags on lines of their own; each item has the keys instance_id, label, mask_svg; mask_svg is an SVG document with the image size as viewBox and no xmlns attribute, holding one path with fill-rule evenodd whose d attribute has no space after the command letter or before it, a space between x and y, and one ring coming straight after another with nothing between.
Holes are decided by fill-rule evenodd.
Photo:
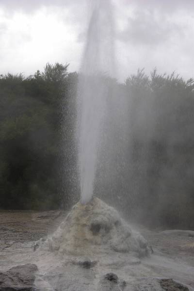
<instances>
[{"instance_id":1,"label":"grey cloudy sky to the right of the water jet","mask_svg":"<svg viewBox=\"0 0 194 291\"><path fill-rule=\"evenodd\" d=\"M149 74L157 67L161 73L193 77L194 1L121 2L122 8L115 2L118 75L127 77L138 67Z\"/></svg>"}]
</instances>

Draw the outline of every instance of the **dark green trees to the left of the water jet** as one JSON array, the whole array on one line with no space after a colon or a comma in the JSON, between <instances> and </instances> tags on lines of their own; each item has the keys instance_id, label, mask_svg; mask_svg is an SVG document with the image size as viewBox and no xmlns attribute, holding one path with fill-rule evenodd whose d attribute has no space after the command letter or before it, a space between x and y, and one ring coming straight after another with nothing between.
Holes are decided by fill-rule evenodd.
<instances>
[{"instance_id":1,"label":"dark green trees to the left of the water jet","mask_svg":"<svg viewBox=\"0 0 194 291\"><path fill-rule=\"evenodd\" d=\"M44 72L28 78L7 74L0 79L1 208L60 207L61 141L72 140L74 127L66 111L68 130L63 136L61 104L73 111L76 97L75 90L69 95L74 75L67 68L47 64ZM65 166L70 168L73 162L68 159Z\"/></svg>"}]
</instances>

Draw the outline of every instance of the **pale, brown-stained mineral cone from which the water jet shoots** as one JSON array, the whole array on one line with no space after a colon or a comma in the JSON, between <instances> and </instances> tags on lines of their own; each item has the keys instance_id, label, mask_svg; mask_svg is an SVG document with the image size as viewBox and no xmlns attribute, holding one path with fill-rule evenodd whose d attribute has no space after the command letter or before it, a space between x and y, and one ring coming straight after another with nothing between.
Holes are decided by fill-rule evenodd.
<instances>
[{"instance_id":1,"label":"pale, brown-stained mineral cone from which the water jet shoots","mask_svg":"<svg viewBox=\"0 0 194 291\"><path fill-rule=\"evenodd\" d=\"M146 240L113 207L96 197L86 205L78 202L54 234L41 244L50 251L72 255L104 251L148 254Z\"/></svg>"}]
</instances>

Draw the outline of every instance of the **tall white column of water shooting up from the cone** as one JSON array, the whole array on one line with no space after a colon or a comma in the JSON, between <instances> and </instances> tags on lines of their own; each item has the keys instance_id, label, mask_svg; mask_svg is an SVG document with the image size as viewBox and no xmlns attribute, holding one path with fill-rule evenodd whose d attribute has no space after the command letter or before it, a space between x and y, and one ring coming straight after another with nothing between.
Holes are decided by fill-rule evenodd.
<instances>
[{"instance_id":1,"label":"tall white column of water shooting up from the cone","mask_svg":"<svg viewBox=\"0 0 194 291\"><path fill-rule=\"evenodd\" d=\"M114 72L113 32L111 2L93 1L78 90L79 166L83 204L93 196L97 146L106 106L106 89L101 75L112 76Z\"/></svg>"}]
</instances>

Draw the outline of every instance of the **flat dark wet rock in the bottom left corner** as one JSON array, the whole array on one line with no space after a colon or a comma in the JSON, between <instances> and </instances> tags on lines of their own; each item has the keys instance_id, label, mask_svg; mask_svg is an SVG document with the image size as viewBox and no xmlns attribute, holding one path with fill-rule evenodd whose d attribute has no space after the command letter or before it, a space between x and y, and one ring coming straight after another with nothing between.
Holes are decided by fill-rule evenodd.
<instances>
[{"instance_id":1,"label":"flat dark wet rock in the bottom left corner","mask_svg":"<svg viewBox=\"0 0 194 291\"><path fill-rule=\"evenodd\" d=\"M35 291L33 283L37 270L35 264L25 264L0 273L0 291Z\"/></svg>"}]
</instances>

